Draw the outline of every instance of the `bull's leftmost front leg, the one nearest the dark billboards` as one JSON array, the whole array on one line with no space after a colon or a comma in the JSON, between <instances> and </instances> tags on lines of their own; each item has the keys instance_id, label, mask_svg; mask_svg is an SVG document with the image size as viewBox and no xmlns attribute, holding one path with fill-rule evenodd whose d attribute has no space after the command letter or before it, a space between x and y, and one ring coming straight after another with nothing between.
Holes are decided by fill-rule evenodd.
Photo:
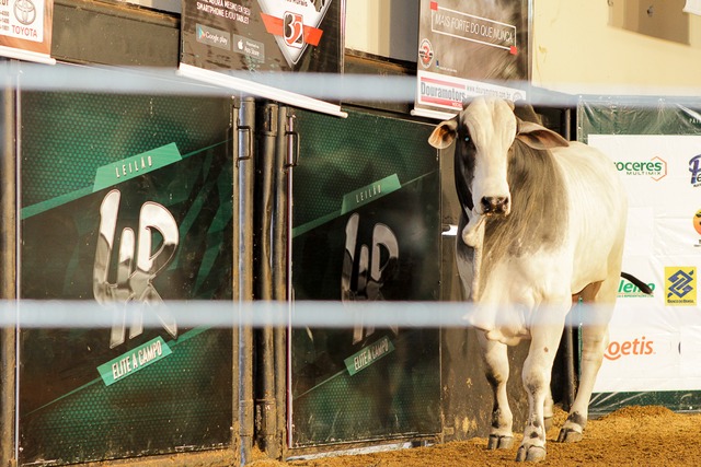
<instances>
[{"instance_id":1,"label":"bull's leftmost front leg, the one nearest the dark billboards","mask_svg":"<svg viewBox=\"0 0 701 467\"><path fill-rule=\"evenodd\" d=\"M508 354L505 343L489 340L484 332L478 331L484 363L486 380L492 387L494 405L492 407L492 428L490 430L489 450L506 450L514 444L512 425L514 416L508 407L506 382L508 381Z\"/></svg>"}]
</instances>

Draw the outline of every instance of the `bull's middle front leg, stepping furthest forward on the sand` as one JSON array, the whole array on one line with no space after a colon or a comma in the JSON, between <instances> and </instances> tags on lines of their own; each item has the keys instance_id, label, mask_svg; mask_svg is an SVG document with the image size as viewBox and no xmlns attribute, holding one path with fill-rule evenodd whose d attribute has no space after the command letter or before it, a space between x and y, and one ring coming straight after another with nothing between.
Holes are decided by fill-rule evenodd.
<instances>
[{"instance_id":1,"label":"bull's middle front leg, stepping furthest forward on the sand","mask_svg":"<svg viewBox=\"0 0 701 467\"><path fill-rule=\"evenodd\" d=\"M554 314L553 314L554 315ZM556 316L551 319L558 320ZM531 328L531 342L524 362L524 388L528 396L528 420L524 430L524 441L516 454L517 462L539 462L545 458L544 408L550 398L552 364L558 353L564 323Z\"/></svg>"}]
</instances>

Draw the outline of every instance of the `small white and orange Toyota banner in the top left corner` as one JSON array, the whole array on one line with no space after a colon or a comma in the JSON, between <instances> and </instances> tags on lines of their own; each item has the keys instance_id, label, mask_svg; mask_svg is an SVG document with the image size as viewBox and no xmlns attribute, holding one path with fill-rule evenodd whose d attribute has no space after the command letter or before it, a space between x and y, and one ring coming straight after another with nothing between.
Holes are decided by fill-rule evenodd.
<instances>
[{"instance_id":1,"label":"small white and orange Toyota banner in the top left corner","mask_svg":"<svg viewBox=\"0 0 701 467\"><path fill-rule=\"evenodd\" d=\"M55 63L54 0L0 0L0 56Z\"/></svg>"}]
</instances>

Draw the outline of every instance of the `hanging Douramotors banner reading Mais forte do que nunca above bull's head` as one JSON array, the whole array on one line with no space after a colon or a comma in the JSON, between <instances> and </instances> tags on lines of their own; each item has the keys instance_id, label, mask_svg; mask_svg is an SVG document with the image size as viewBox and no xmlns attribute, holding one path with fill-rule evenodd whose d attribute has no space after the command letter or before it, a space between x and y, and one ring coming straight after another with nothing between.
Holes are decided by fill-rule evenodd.
<instances>
[{"instance_id":1,"label":"hanging Douramotors banner reading Mais forte do que nunca above bull's head","mask_svg":"<svg viewBox=\"0 0 701 467\"><path fill-rule=\"evenodd\" d=\"M524 98L508 82L529 78L528 3L422 0L414 113L447 118L470 96Z\"/></svg>"}]
</instances>

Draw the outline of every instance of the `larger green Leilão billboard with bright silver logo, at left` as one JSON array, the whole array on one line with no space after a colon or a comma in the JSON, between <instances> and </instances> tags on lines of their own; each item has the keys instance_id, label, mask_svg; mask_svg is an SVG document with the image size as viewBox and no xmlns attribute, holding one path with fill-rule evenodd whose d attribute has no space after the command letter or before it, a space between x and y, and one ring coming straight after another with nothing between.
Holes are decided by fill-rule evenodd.
<instances>
[{"instance_id":1,"label":"larger green Leil\u00e3o billboard with bright silver logo, at left","mask_svg":"<svg viewBox=\"0 0 701 467\"><path fill-rule=\"evenodd\" d=\"M232 296L230 102L20 100L20 464L230 446L231 329L168 307ZM22 326L23 307L66 301L113 325Z\"/></svg>"}]
</instances>

